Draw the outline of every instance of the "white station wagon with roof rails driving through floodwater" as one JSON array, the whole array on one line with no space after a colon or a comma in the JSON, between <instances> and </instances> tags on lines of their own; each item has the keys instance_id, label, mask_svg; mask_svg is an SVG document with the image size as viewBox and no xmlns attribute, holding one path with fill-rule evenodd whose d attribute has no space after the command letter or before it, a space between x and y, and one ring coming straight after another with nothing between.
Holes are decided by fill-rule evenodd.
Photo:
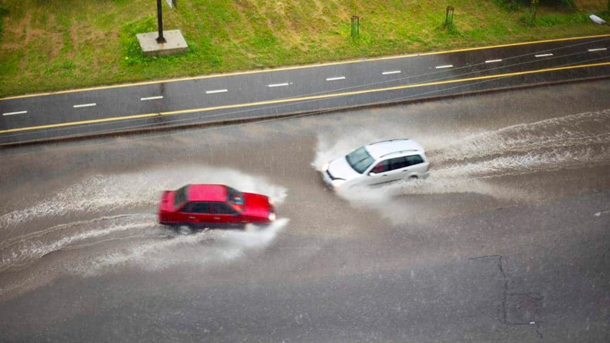
<instances>
[{"instance_id":1,"label":"white station wagon with roof rails driving through floodwater","mask_svg":"<svg viewBox=\"0 0 610 343\"><path fill-rule=\"evenodd\" d=\"M326 163L322 177L332 189L355 184L372 186L428 177L430 161L414 140L384 140L359 147Z\"/></svg>"}]
</instances>

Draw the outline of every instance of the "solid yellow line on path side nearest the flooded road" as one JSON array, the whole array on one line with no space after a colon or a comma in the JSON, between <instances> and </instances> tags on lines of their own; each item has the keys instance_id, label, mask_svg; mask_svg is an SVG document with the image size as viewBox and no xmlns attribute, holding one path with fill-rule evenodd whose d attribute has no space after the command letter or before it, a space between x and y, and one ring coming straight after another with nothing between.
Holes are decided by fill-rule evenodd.
<instances>
[{"instance_id":1,"label":"solid yellow line on path side nearest the flooded road","mask_svg":"<svg viewBox=\"0 0 610 343\"><path fill-rule=\"evenodd\" d=\"M320 99L328 99L331 97L344 97L344 96L348 96L348 95L360 95L360 94L366 94L366 93L386 92L389 90L402 90L402 89L407 89L407 88L438 86L438 85L449 84L449 83L499 79L501 77L520 76L520 75L527 75L527 74L539 74L539 73L545 73L545 72L557 72L560 70L568 70L568 69L601 67L604 65L610 65L610 62L592 63L592 64L588 64L588 65L573 65L573 66L569 66L569 67L554 67L554 68L536 69L536 70L529 70L526 72L513 72L513 73L506 73L506 74L475 76L475 77L469 77L466 79L454 79L454 80L433 81L433 82L426 82L426 83L414 83L414 84L409 84L409 85L393 86L393 87L386 87L386 88L353 90L351 92L342 92L342 93L310 95L310 96L304 96L304 97L290 97L290 98L285 98L285 99L247 102L247 103L243 103L243 104L234 104L234 105L220 105L220 106L214 106L214 107L201 107L201 108L196 108L196 109L179 109L177 111L148 113L148 114L135 114L133 116L116 116L116 117L105 118L105 119L92 119L92 120L88 120L88 121L74 121L74 122L70 122L70 123L57 123L57 124L49 124L49 125L42 125L42 126L31 126L31 127L27 127L27 128L11 128L8 130L0 130L0 134L1 133L14 133L14 132L28 131L28 130L40 130L43 128L61 128L61 127L66 127L66 126L77 126L77 125L90 124L90 123L106 123L109 121L123 121L123 120L128 120L128 119L140 119L140 118L147 118L147 117L151 117L151 116L158 116L159 114L161 114L163 116L172 116L172 115L177 115L177 114L189 114L189 113L194 113L194 112L208 112L208 111L214 111L217 109L233 109L233 108L239 108L239 107L252 107L252 106L261 106L261 105L282 104L285 102L320 100Z\"/></svg>"}]
</instances>

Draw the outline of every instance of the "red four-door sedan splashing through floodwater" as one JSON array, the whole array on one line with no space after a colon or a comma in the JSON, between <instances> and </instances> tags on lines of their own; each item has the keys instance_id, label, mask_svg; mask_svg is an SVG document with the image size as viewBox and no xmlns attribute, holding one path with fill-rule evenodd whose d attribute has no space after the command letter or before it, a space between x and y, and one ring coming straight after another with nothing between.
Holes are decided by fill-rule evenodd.
<instances>
[{"instance_id":1,"label":"red four-door sedan splashing through floodwater","mask_svg":"<svg viewBox=\"0 0 610 343\"><path fill-rule=\"evenodd\" d=\"M159 223L191 227L245 227L269 224L276 210L268 196L237 191L224 184L187 184L163 191Z\"/></svg>"}]
</instances>

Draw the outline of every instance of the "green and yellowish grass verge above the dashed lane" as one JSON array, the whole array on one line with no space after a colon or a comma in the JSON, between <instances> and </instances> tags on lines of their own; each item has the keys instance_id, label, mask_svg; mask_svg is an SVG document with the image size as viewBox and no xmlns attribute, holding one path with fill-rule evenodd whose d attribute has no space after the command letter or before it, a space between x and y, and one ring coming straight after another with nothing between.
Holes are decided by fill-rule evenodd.
<instances>
[{"instance_id":1,"label":"green and yellowish grass verge above the dashed lane","mask_svg":"<svg viewBox=\"0 0 610 343\"><path fill-rule=\"evenodd\" d=\"M445 8L455 8L445 27ZM156 31L150 0L0 0L0 97L176 76L301 65L610 33L606 0L576 9L505 0L163 1L165 29L180 29L189 52L145 58L135 34ZM578 7L580 6L580 7ZM360 15L351 37L350 17Z\"/></svg>"}]
</instances>

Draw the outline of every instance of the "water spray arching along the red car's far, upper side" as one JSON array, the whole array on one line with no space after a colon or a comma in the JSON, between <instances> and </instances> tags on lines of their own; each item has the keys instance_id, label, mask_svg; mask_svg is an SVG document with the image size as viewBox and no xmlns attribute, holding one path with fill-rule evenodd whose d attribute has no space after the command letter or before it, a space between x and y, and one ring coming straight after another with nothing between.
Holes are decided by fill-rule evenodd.
<instances>
[{"instance_id":1,"label":"water spray arching along the red car's far, upper side","mask_svg":"<svg viewBox=\"0 0 610 343\"><path fill-rule=\"evenodd\" d=\"M58 191L29 208L0 216L0 227L9 228L41 217L68 213L106 213L111 210L156 206L161 191L188 183L229 184L240 191L266 194L282 203L286 189L263 177L252 177L229 168L177 167L122 175L95 175Z\"/></svg>"}]
</instances>

